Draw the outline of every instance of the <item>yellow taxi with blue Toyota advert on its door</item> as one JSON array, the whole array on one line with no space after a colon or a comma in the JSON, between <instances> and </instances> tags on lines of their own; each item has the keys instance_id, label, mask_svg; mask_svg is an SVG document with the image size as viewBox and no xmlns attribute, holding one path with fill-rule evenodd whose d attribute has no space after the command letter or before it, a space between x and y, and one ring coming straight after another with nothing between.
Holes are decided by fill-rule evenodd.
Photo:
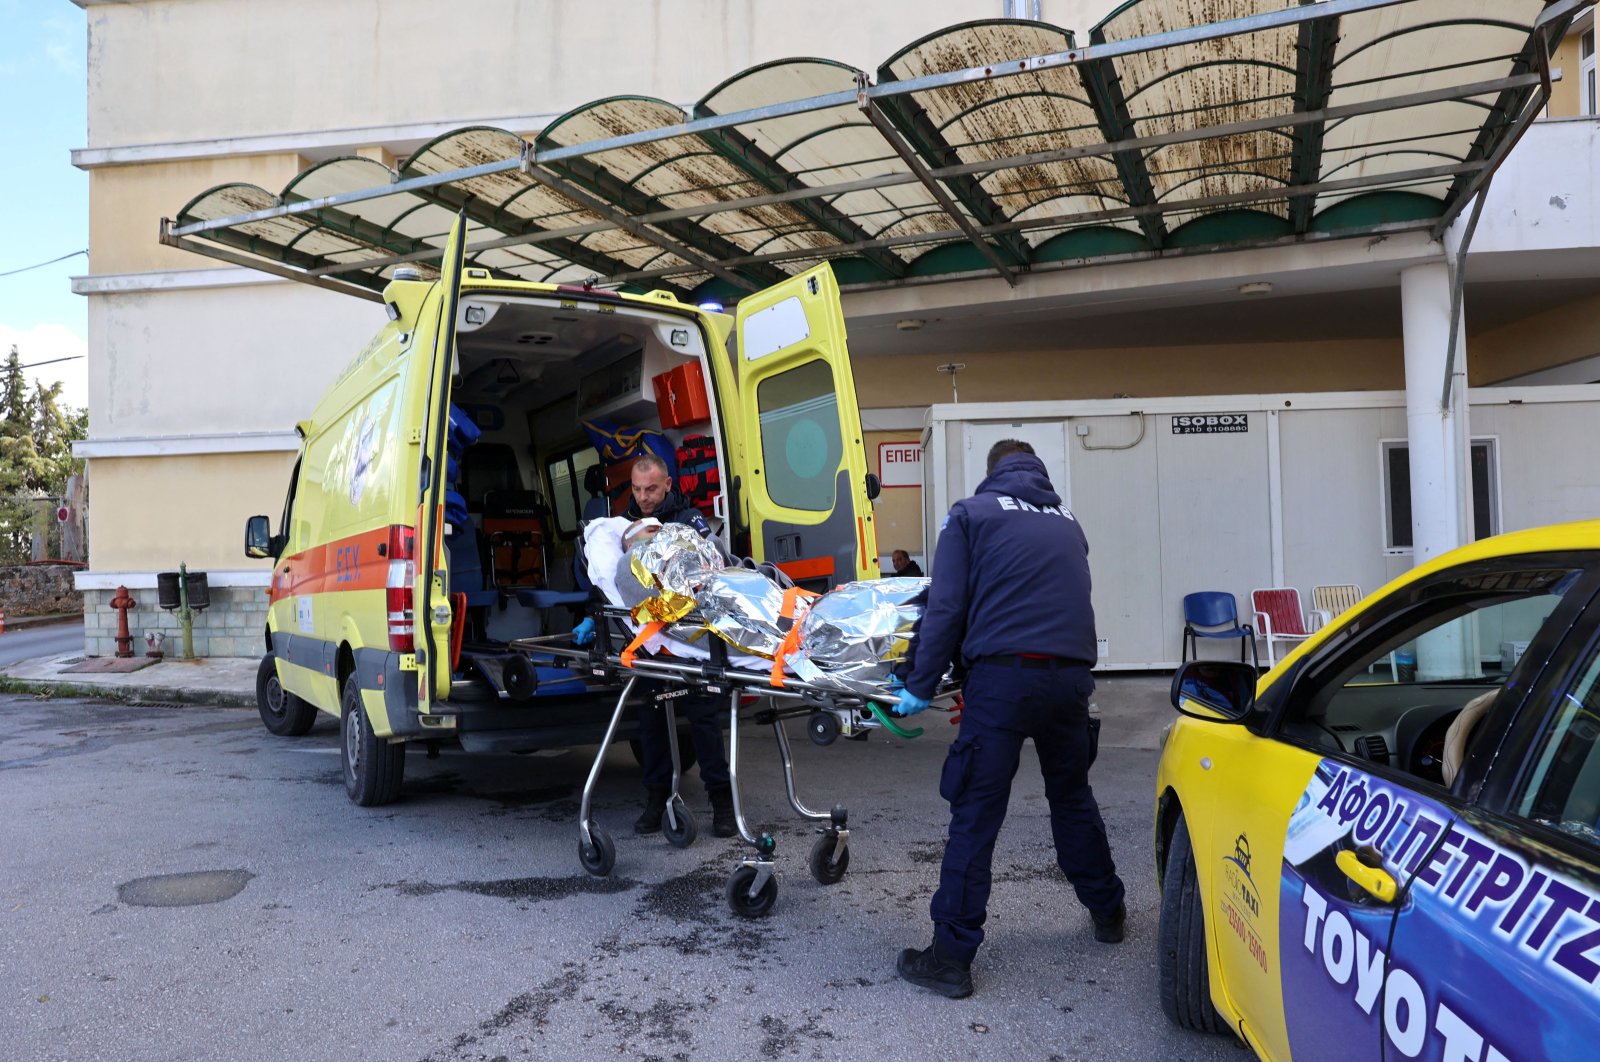
<instances>
[{"instance_id":1,"label":"yellow taxi with blue Toyota advert on its door","mask_svg":"<svg viewBox=\"0 0 1600 1062\"><path fill-rule=\"evenodd\" d=\"M1259 678L1173 677L1158 992L1264 1059L1594 1057L1600 521L1485 539Z\"/></svg>"}]
</instances>

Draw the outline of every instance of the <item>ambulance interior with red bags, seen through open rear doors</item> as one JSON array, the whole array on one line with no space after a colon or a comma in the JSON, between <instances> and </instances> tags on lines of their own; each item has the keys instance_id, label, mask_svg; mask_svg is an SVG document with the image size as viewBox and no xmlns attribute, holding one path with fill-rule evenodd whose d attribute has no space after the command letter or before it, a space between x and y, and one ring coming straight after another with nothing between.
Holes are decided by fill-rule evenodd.
<instances>
[{"instance_id":1,"label":"ambulance interior with red bags, seen through open rear doors","mask_svg":"<svg viewBox=\"0 0 1600 1062\"><path fill-rule=\"evenodd\" d=\"M726 469L706 363L714 337L696 318L469 289L456 323L453 416L482 432L470 445L453 433L446 469L450 592L466 595L467 645L578 621L579 525L627 507L634 464L603 461L586 422L619 440L613 454L642 430L659 432L656 453L680 464L674 485L723 533ZM552 606L539 590L571 600Z\"/></svg>"}]
</instances>

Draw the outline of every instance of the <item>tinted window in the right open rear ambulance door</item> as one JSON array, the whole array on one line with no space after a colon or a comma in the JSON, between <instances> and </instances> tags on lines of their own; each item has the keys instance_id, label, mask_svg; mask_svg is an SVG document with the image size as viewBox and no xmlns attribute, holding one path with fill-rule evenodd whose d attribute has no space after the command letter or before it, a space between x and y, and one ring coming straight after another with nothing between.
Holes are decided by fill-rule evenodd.
<instances>
[{"instance_id":1,"label":"tinted window in the right open rear ambulance door","mask_svg":"<svg viewBox=\"0 0 1600 1062\"><path fill-rule=\"evenodd\" d=\"M766 494L786 509L829 512L843 440L827 361L806 361L763 379L755 405Z\"/></svg>"}]
</instances>

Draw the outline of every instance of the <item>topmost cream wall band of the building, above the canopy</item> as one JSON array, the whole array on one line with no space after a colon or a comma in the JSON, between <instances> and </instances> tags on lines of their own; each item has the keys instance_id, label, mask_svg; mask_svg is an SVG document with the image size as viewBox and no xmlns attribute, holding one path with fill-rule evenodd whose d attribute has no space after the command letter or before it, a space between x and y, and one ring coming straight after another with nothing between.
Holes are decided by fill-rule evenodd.
<instances>
[{"instance_id":1,"label":"topmost cream wall band of the building, above the canopy","mask_svg":"<svg viewBox=\"0 0 1600 1062\"><path fill-rule=\"evenodd\" d=\"M1110 6L1056 0L1043 14ZM1000 0L93 5L90 146L467 123L618 93L693 102L768 59L824 56L875 70L917 37L1000 10Z\"/></svg>"}]
</instances>

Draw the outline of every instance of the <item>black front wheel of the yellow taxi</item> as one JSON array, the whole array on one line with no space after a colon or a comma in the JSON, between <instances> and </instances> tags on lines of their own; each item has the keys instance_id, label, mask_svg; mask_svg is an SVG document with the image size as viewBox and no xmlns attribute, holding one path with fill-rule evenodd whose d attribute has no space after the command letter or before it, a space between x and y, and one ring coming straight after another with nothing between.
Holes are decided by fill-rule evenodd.
<instances>
[{"instance_id":1,"label":"black front wheel of the yellow taxi","mask_svg":"<svg viewBox=\"0 0 1600 1062\"><path fill-rule=\"evenodd\" d=\"M1211 1006L1211 974L1206 969L1205 910L1200 875L1195 873L1189 824L1178 817L1162 878L1162 924L1157 931L1157 985L1162 1009L1179 1028L1219 1033L1227 1028Z\"/></svg>"}]
</instances>

